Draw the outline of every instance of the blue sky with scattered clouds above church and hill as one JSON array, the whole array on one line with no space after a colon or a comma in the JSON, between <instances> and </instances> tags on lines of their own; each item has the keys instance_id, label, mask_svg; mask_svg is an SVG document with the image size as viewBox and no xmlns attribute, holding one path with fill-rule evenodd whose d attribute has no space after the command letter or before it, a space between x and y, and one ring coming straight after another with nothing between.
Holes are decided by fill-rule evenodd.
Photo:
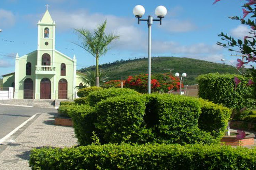
<instances>
[{"instance_id":1,"label":"blue sky with scattered clouds above church and hill","mask_svg":"<svg viewBox=\"0 0 256 170\"><path fill-rule=\"evenodd\" d=\"M74 29L93 31L107 20L106 32L120 38L100 57L99 63L112 63L147 57L147 23L137 24L132 10L145 8L144 19L154 14L158 5L167 8L162 25L152 25L152 57L175 56L221 62L222 58L236 64L238 57L230 56L227 48L216 45L218 34L227 33L242 39L249 28L229 16L242 16L244 0L0 0L0 75L14 72L15 55L23 56L37 49L37 22L48 11L56 22L56 50L73 58L77 69L95 65L95 58L81 47ZM232 53L235 54L235 53ZM226 63L230 64L230 63Z\"/></svg>"}]
</instances>

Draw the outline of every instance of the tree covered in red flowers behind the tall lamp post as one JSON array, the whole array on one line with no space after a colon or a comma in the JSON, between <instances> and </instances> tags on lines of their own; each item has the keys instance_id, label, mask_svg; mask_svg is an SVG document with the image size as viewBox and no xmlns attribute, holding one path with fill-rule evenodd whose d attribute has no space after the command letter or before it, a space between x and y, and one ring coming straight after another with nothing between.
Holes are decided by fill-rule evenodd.
<instances>
[{"instance_id":1,"label":"tree covered in red flowers behind the tall lamp post","mask_svg":"<svg viewBox=\"0 0 256 170\"><path fill-rule=\"evenodd\" d=\"M129 76L125 81L124 87L134 89L140 93L147 93L147 74L140 74L134 77ZM180 89L180 79L170 74L152 74L152 92L168 92L178 89Z\"/></svg>"}]
</instances>

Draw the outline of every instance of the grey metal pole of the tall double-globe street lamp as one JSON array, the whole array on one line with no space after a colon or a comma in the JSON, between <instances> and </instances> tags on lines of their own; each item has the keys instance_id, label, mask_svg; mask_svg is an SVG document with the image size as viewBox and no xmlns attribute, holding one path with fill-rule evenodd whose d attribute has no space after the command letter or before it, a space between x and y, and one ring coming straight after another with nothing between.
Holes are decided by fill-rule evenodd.
<instances>
[{"instance_id":1,"label":"grey metal pole of the tall double-globe street lamp","mask_svg":"<svg viewBox=\"0 0 256 170\"><path fill-rule=\"evenodd\" d=\"M148 82L147 92L151 94L151 26L153 24L153 17L148 16Z\"/></svg>"}]
</instances>

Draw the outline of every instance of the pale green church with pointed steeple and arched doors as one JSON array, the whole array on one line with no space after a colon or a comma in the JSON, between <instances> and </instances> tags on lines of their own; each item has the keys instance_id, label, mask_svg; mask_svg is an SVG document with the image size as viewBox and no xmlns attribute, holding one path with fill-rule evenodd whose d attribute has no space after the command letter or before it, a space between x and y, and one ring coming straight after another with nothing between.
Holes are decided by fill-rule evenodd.
<instances>
[{"instance_id":1,"label":"pale green church with pointed steeple and arched doors","mask_svg":"<svg viewBox=\"0 0 256 170\"><path fill-rule=\"evenodd\" d=\"M16 55L15 72L2 75L3 87L14 87L14 99L74 99L82 86L76 58L55 49L55 21L48 10L38 22L38 47Z\"/></svg>"}]
</instances>

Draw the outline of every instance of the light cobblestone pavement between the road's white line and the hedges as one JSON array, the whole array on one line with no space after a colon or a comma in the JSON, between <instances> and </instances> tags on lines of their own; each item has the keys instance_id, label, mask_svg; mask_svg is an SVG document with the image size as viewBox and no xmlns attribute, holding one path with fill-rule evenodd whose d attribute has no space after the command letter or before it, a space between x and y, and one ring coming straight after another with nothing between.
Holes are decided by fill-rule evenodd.
<instances>
[{"instance_id":1,"label":"light cobblestone pavement between the road's white line and the hedges","mask_svg":"<svg viewBox=\"0 0 256 170\"><path fill-rule=\"evenodd\" d=\"M28 170L33 148L72 147L77 139L73 128L54 125L54 113L43 113L16 139L11 136L2 145L6 148L0 153L0 170Z\"/></svg>"}]
</instances>

